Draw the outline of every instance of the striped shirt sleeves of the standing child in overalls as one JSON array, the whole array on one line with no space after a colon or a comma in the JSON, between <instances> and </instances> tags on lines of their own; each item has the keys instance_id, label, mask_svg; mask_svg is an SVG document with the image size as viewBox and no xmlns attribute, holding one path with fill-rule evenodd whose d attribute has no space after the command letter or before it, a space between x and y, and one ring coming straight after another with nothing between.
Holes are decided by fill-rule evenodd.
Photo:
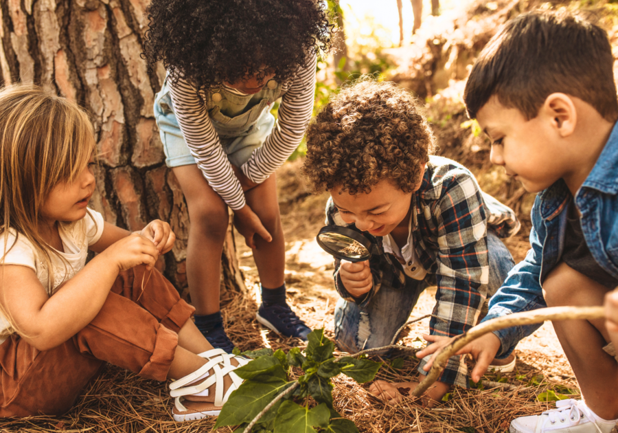
<instances>
[{"instance_id":1,"label":"striped shirt sleeves of the standing child in overalls","mask_svg":"<svg viewBox=\"0 0 618 433\"><path fill-rule=\"evenodd\" d=\"M275 127L263 146L241 167L244 175L256 184L261 184L277 170L303 139L313 109L316 62L314 57L295 78L282 85L285 93ZM180 79L175 84L170 83L170 94L185 142L208 184L230 208L242 208L245 204L242 187L195 87Z\"/></svg>"}]
</instances>

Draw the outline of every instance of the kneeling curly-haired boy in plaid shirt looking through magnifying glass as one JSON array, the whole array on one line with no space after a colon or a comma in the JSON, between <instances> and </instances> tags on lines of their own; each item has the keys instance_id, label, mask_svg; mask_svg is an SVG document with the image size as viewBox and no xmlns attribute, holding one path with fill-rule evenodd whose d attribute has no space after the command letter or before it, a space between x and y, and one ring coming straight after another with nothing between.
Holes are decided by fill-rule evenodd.
<instances>
[{"instance_id":1,"label":"kneeling curly-haired boy in plaid shirt looking through magnifying glass","mask_svg":"<svg viewBox=\"0 0 618 433\"><path fill-rule=\"evenodd\" d=\"M464 333L514 265L499 239L518 230L514 213L481 192L467 168L430 156L434 142L413 97L371 79L343 88L309 126L303 171L314 192L330 192L327 223L364 232L385 252L335 260L335 337L347 351L390 344L430 285L435 317L424 337ZM468 387L467 371L450 359L428 403L453 384ZM397 388L414 387L378 381L371 391L400 399Z\"/></svg>"}]
</instances>

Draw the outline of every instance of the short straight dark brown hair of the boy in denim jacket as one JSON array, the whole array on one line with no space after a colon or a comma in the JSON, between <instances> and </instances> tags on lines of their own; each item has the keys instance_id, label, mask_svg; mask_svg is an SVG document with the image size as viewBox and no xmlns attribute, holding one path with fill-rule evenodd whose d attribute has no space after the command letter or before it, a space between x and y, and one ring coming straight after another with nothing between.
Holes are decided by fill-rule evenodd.
<instances>
[{"instance_id":1,"label":"short straight dark brown hair of the boy in denim jacket","mask_svg":"<svg viewBox=\"0 0 618 433\"><path fill-rule=\"evenodd\" d=\"M527 120L551 93L591 104L618 118L612 47L605 30L569 12L534 11L508 21L474 63L464 91L474 119L492 96Z\"/></svg>"}]
</instances>

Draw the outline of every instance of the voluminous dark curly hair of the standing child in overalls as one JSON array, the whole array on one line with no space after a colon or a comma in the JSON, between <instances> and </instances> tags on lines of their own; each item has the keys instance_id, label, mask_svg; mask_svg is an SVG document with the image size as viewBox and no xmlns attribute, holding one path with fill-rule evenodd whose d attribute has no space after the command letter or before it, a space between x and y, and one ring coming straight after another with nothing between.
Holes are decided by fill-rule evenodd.
<instances>
[{"instance_id":1,"label":"voluminous dark curly hair of the standing child in overalls","mask_svg":"<svg viewBox=\"0 0 618 433\"><path fill-rule=\"evenodd\" d=\"M332 45L323 3L152 0L144 56L150 67L163 60L172 82L183 78L198 90L268 72L286 81Z\"/></svg>"}]
</instances>

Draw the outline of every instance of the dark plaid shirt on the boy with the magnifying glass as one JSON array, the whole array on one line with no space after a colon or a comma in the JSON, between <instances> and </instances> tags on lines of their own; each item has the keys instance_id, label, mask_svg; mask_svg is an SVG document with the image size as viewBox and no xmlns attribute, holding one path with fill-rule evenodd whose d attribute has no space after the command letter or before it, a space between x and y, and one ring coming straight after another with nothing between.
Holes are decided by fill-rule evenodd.
<instances>
[{"instance_id":1,"label":"dark plaid shirt on the boy with the magnifying glass","mask_svg":"<svg viewBox=\"0 0 618 433\"><path fill-rule=\"evenodd\" d=\"M444 319L431 318L430 333L448 337L459 335L477 322L487 296L488 227L505 238L515 234L520 223L510 208L481 191L467 168L444 157L430 157L422 184L412 195L411 206L415 252L428 274L435 274L437 292L433 314ZM326 222L360 232L354 224L347 225L341 219L332 200L326 208ZM382 237L363 234L382 247ZM374 278L373 287L366 296L356 299L343 287L340 264L341 260L335 260L336 290L342 298L356 302L361 308L371 302L382 285L394 288L406 285L402 265L394 256L372 256L369 267ZM385 266L392 271L383 272ZM387 280L383 275L388 276ZM453 357L439 380L467 387L467 373L464 362Z\"/></svg>"}]
</instances>

